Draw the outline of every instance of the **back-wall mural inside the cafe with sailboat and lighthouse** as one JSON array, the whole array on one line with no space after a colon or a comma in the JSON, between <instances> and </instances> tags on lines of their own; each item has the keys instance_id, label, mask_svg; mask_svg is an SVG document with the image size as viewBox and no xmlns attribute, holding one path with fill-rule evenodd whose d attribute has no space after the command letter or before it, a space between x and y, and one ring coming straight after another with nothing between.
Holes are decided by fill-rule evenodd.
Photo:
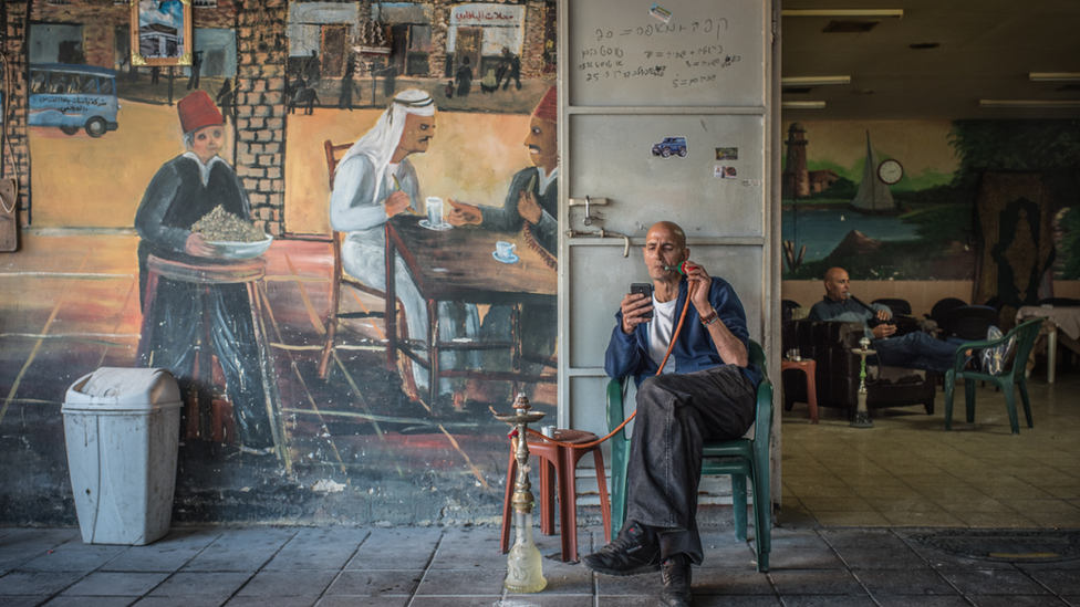
<instances>
[{"instance_id":1,"label":"back-wall mural inside the cafe with sailboat and lighthouse","mask_svg":"<svg viewBox=\"0 0 1080 607\"><path fill-rule=\"evenodd\" d=\"M1074 121L791 123L782 182L785 279L839 265L855 280L972 280L987 171L1034 171L1052 190L1056 275L1080 269Z\"/></svg>"}]
</instances>

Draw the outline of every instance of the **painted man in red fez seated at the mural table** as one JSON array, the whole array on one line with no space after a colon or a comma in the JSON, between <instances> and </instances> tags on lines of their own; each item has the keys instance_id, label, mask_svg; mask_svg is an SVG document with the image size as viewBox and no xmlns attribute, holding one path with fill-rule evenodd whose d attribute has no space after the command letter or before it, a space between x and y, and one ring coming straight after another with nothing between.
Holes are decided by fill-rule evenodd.
<instances>
[{"instance_id":1,"label":"painted man in red fez seated at the mural table","mask_svg":"<svg viewBox=\"0 0 1080 607\"><path fill-rule=\"evenodd\" d=\"M541 254L555 263L559 248L559 148L558 148L558 95L552 86L532 113L529 134L523 142L529 148L531 167L519 170L510 179L502 207L474 206L450 200L453 207L447 221L454 226L478 224L485 230L515 233L528 230L543 251ZM554 269L551 270L554 272ZM492 305L484 316L480 338L484 341L510 341L510 306ZM553 356L558 332L558 310L553 305L522 305L522 341L528 352ZM525 370L538 374L541 365L525 363ZM510 370L507 352L489 350L484 355L487 370ZM489 395L499 398L503 395Z\"/></svg>"}]
</instances>

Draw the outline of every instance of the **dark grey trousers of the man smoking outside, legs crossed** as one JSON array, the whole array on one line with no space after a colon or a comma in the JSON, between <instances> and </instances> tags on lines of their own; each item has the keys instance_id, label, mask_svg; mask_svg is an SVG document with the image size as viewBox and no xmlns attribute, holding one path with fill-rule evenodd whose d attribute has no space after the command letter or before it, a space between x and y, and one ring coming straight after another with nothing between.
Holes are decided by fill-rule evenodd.
<instances>
[{"instance_id":1,"label":"dark grey trousers of the man smoking outside, legs crossed","mask_svg":"<svg viewBox=\"0 0 1080 607\"><path fill-rule=\"evenodd\" d=\"M627 473L627 524L656 527L664 558L704 557L697 485L706 441L740 438L754 423L755 387L735 365L650 377L637 388Z\"/></svg>"}]
</instances>

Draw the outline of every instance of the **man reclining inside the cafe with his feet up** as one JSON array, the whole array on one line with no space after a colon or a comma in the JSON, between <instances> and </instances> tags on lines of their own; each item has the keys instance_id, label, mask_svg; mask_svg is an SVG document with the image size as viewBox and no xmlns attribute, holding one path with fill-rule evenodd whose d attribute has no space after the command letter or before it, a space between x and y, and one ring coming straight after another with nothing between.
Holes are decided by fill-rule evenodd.
<instances>
[{"instance_id":1,"label":"man reclining inside the cafe with his feet up","mask_svg":"<svg viewBox=\"0 0 1080 607\"><path fill-rule=\"evenodd\" d=\"M851 282L843 268L832 268L825 272L825 296L810 308L811 321L847 321L866 324L871 318L887 321L892 312L887 306L858 303L848 291ZM878 360L887 367L923 369L944 374L953 368L956 344L935 339L923 332L892 337L896 326L879 324L866 328L866 337L872 338L871 348L878 352Z\"/></svg>"}]
</instances>

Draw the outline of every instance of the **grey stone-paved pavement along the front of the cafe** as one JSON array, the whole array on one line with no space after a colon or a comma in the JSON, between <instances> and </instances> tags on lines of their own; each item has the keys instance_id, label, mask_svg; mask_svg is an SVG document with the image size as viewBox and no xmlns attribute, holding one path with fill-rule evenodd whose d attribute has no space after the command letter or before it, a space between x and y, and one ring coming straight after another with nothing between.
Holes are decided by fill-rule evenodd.
<instances>
[{"instance_id":1,"label":"grey stone-paved pavement along the front of the cafe","mask_svg":"<svg viewBox=\"0 0 1080 607\"><path fill-rule=\"evenodd\" d=\"M1080 605L1080 559L968 558L914 538L935 531L942 530L776 528L770 571L760 574L752 542L736 542L730 527L706 530L705 566L694 569L695 606ZM1074 532L1041 533L1074 556ZM582 530L582 550L590 542L602 543L603 533ZM548 587L507 595L494 527L180 527L149 546L85 545L71 528L0 528L0 605L657 605L660 574L594 575L550 557L558 536L538 535L538 545L549 556Z\"/></svg>"}]
</instances>

